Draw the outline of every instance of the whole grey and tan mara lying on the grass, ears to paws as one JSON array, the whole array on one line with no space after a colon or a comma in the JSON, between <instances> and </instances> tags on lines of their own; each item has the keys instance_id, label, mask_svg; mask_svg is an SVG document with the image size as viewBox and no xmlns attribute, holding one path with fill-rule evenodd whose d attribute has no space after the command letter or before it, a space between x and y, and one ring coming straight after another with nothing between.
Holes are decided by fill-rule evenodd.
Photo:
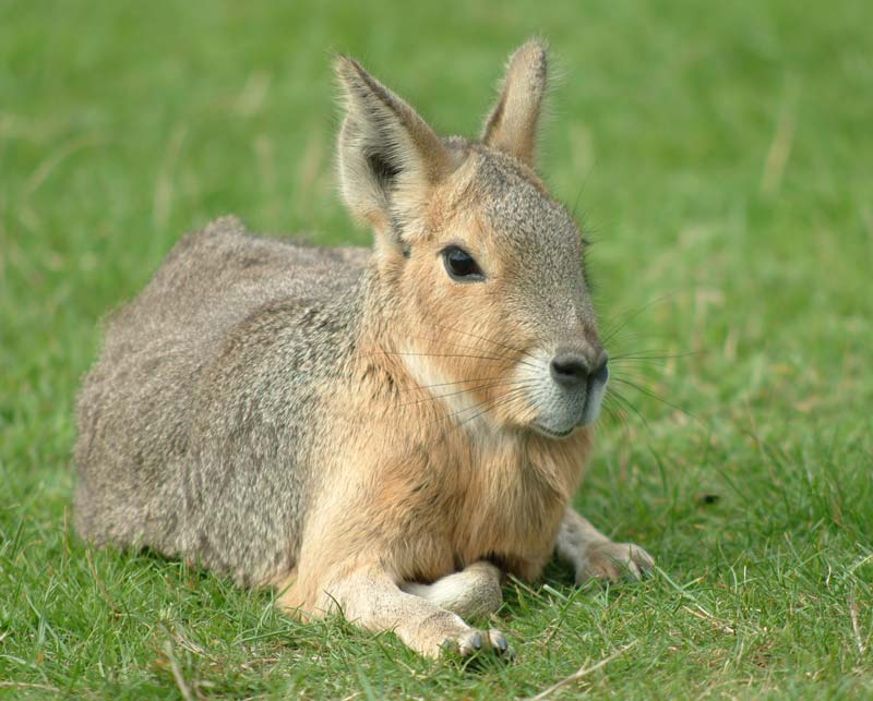
<instances>
[{"instance_id":1,"label":"whole grey and tan mara lying on the grass, ears to paws","mask_svg":"<svg viewBox=\"0 0 873 701\"><path fill-rule=\"evenodd\" d=\"M339 605L438 654L491 646L555 548L577 578L650 566L569 503L606 385L578 231L533 170L546 57L513 58L481 142L441 140L338 61L346 203L372 252L183 239L110 322L79 401L75 513L310 616Z\"/></svg>"}]
</instances>

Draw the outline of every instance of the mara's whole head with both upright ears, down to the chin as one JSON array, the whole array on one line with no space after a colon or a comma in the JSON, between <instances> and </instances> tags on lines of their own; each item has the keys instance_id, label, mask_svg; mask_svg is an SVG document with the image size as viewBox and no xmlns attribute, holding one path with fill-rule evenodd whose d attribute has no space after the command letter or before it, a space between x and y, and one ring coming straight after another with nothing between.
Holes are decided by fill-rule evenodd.
<instances>
[{"instance_id":1,"label":"mara's whole head with both upright ears, down to the chin","mask_svg":"<svg viewBox=\"0 0 873 701\"><path fill-rule=\"evenodd\" d=\"M346 204L375 232L394 352L458 423L565 436L594 421L607 354L582 237L534 171L547 56L510 59L479 141L441 138L356 61L337 61Z\"/></svg>"}]
</instances>

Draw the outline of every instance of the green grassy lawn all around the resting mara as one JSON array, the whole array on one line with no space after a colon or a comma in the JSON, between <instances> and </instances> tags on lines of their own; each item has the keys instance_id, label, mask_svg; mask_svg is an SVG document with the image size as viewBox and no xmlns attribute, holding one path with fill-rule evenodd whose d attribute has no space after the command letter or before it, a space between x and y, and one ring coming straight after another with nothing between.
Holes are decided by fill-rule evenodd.
<instances>
[{"instance_id":1,"label":"green grassy lawn all around the resting mara","mask_svg":"<svg viewBox=\"0 0 873 701\"><path fill-rule=\"evenodd\" d=\"M615 655L553 698L873 697L870 3L491 4L0 0L0 696L524 698ZM87 551L98 318L223 213L368 240L333 190L328 50L474 133L535 32L562 74L543 171L597 241L612 350L682 355L623 377L692 416L615 383L645 422L603 424L577 498L655 577L510 583L518 663L474 670Z\"/></svg>"}]
</instances>

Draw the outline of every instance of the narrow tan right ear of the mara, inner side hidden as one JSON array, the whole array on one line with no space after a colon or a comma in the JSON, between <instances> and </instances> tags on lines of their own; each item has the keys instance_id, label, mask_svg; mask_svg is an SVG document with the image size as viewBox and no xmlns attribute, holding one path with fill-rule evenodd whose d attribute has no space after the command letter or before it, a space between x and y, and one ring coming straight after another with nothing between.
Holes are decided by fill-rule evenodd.
<instances>
[{"instance_id":1,"label":"narrow tan right ear of the mara, inner side hidden","mask_svg":"<svg viewBox=\"0 0 873 701\"><path fill-rule=\"evenodd\" d=\"M542 96L546 93L547 49L538 39L522 46L510 59L500 99L482 132L482 143L534 167Z\"/></svg>"}]
</instances>

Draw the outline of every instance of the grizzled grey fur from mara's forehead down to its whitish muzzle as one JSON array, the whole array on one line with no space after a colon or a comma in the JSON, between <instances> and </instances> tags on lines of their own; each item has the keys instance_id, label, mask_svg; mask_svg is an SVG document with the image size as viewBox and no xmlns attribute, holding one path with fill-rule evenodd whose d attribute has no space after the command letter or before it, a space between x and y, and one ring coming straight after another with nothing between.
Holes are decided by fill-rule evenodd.
<instances>
[{"instance_id":1,"label":"grizzled grey fur from mara's forehead down to its whitish muzzle","mask_svg":"<svg viewBox=\"0 0 873 701\"><path fill-rule=\"evenodd\" d=\"M502 270L513 285L506 306L513 326L537 339L518 377L528 380L527 401L539 410L537 428L565 435L590 423L599 411L598 392L567 392L552 382L549 363L562 348L575 348L595 359L602 346L597 317L584 278L582 240L565 207L552 200L529 169L502 153L468 144L476 159L477 201L503 251Z\"/></svg>"}]
</instances>

